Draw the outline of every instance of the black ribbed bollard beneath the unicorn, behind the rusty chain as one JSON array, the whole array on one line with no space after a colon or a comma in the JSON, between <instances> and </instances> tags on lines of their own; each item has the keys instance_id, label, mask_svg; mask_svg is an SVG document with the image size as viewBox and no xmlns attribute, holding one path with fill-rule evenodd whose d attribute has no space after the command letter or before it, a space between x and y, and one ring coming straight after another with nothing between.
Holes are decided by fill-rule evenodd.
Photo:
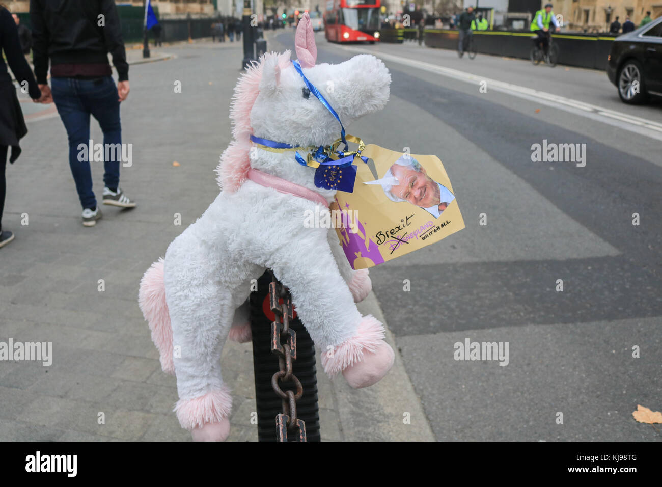
<instances>
[{"instance_id":1,"label":"black ribbed bollard beneath the unicorn, behind the rusty chain","mask_svg":"<svg viewBox=\"0 0 662 487\"><path fill-rule=\"evenodd\" d=\"M271 378L278 372L279 366L278 357L271 353L273 313L265 313L269 309L270 282L271 275L265 272L258 280L258 290L252 292L249 298L259 441L276 441L276 415L283 411L281 398L271 388ZM297 334L297 360L292 362L293 374L303 386L303 396L297 401L297 417L305 421L307 441L320 441L314 344L299 318L292 319L289 327ZM295 441L295 436L289 435L288 441Z\"/></svg>"}]
</instances>

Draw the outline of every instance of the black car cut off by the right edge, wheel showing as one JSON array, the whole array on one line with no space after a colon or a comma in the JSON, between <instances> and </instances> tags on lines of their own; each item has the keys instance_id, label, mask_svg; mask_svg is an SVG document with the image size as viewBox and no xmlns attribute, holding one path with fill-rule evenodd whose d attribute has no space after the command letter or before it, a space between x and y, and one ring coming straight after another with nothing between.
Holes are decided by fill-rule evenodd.
<instances>
[{"instance_id":1,"label":"black car cut off by the right edge, wheel showing","mask_svg":"<svg viewBox=\"0 0 662 487\"><path fill-rule=\"evenodd\" d=\"M609 81L625 103L662 97L662 17L614 39L608 61Z\"/></svg>"}]
</instances>

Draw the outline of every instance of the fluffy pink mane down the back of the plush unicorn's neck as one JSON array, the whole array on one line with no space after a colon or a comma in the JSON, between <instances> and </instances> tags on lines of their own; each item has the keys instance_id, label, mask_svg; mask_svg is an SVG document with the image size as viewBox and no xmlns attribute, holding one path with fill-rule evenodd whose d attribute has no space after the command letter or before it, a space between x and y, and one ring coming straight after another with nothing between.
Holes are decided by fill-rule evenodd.
<instances>
[{"instance_id":1,"label":"fluffy pink mane down the back of the plush unicorn's neck","mask_svg":"<svg viewBox=\"0 0 662 487\"><path fill-rule=\"evenodd\" d=\"M289 50L282 54L267 52L261 56L258 62L252 62L234 87L234 95L232 103L230 103L230 120L234 140L221 154L220 162L216 166L216 174L218 174L216 181L224 191L234 193L246 181L250 169L250 158L248 157L251 148L250 136L253 133L250 126L250 112L260 94L264 62L274 56L278 59L278 66L281 70L287 68L290 62Z\"/></svg>"}]
</instances>

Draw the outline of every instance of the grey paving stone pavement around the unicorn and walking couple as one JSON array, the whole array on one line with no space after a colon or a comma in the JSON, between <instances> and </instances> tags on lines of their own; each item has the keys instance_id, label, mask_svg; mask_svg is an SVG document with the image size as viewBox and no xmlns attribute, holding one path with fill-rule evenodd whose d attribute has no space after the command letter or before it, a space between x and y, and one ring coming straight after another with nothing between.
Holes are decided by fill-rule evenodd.
<instances>
[{"instance_id":1,"label":"grey paving stone pavement around the unicorn and walking couple","mask_svg":"<svg viewBox=\"0 0 662 487\"><path fill-rule=\"evenodd\" d=\"M139 50L128 53L140 60ZM138 283L218 193L213 170L230 142L228 106L242 52L238 42L203 41L152 49L152 56L169 59L132 66L122 103L122 141L133 144L133 164L122 168L121 186L136 209L102 207L103 219L82 227L56 116L29 121L23 154L8 165L3 226L16 240L0 250L0 342L52 342L53 362L0 362L2 441L190 440L172 412L175 379L160 370ZM102 140L95 122L91 138ZM103 166L92 171L100 195ZM383 318L372 294L361 311ZM222 364L234 391L230 440L254 441L250 345L227 343ZM367 390L318 372L324 440L434 439L399 354L389 376Z\"/></svg>"}]
</instances>

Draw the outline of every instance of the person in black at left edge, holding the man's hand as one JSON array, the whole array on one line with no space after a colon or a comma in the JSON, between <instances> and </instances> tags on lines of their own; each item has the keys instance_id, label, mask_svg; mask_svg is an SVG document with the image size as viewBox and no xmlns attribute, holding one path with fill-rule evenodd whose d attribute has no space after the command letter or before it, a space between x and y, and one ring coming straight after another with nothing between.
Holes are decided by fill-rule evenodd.
<instances>
[{"instance_id":1,"label":"person in black at left edge, holding the man's hand","mask_svg":"<svg viewBox=\"0 0 662 487\"><path fill-rule=\"evenodd\" d=\"M9 69L14 74L14 78L19 81L21 89L27 91L32 100L50 103L50 98L42 95L30 70L30 65L23 55L23 46L15 19L1 3L0 51L0 247L3 247L14 239L14 234L3 229L2 226L2 214L5 209L5 195L7 193L7 180L5 178L7 155L11 147L9 162L13 164L21 154L19 140L28 133L23 119L23 111L21 111L21 103L19 103L16 88L11 76L9 76L7 64L9 64ZM7 59L6 64L5 58Z\"/></svg>"}]
</instances>

